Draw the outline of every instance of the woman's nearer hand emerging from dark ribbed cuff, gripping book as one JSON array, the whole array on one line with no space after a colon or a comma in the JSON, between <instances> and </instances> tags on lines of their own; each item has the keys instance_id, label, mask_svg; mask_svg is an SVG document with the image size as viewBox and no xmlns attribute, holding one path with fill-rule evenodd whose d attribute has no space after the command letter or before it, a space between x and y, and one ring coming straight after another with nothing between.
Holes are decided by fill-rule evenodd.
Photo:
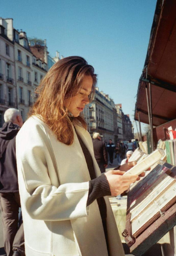
<instances>
[{"instance_id":1,"label":"woman's nearer hand emerging from dark ribbed cuff, gripping book","mask_svg":"<svg viewBox=\"0 0 176 256\"><path fill-rule=\"evenodd\" d=\"M109 183L112 196L118 196L126 191L132 183L138 179L138 175L123 175L125 172L120 170L110 170L105 173Z\"/></svg>"}]
</instances>

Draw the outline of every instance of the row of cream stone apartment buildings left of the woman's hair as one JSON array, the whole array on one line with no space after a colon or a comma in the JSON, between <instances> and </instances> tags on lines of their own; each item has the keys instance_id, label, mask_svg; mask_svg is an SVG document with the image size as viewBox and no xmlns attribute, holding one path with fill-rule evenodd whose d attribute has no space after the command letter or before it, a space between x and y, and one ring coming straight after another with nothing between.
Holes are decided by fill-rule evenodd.
<instances>
[{"instance_id":1,"label":"row of cream stone apartment buildings left of the woman's hair","mask_svg":"<svg viewBox=\"0 0 176 256\"><path fill-rule=\"evenodd\" d=\"M27 119L34 90L46 72L47 64L33 55L26 33L13 28L12 18L0 18L0 126L10 107Z\"/></svg>"}]
</instances>

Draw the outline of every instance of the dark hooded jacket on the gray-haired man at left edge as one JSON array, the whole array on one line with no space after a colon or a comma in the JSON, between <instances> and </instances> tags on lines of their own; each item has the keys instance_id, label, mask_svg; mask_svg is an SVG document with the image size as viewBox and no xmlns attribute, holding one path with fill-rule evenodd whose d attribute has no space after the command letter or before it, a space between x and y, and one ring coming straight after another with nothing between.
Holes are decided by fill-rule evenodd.
<instances>
[{"instance_id":1,"label":"dark hooded jacket on the gray-haired man at left edge","mask_svg":"<svg viewBox=\"0 0 176 256\"><path fill-rule=\"evenodd\" d=\"M7 147L0 158L0 192L18 192L15 139L20 127L11 122L4 123L0 129L0 153ZM9 142L9 143L8 143Z\"/></svg>"}]
</instances>

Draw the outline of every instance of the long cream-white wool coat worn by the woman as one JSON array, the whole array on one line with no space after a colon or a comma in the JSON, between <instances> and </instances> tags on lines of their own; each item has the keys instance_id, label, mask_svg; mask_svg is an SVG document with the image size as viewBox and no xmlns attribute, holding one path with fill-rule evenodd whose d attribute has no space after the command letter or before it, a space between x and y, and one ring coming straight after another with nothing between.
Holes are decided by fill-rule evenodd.
<instances>
[{"instance_id":1,"label":"long cream-white wool coat worn by the woman","mask_svg":"<svg viewBox=\"0 0 176 256\"><path fill-rule=\"evenodd\" d=\"M75 127L98 177L101 173L92 139L85 129ZM18 132L16 154L26 256L108 256L97 201L86 207L90 175L74 127L73 131L73 144L65 145L33 116ZM105 201L110 255L123 256L108 197Z\"/></svg>"}]
</instances>

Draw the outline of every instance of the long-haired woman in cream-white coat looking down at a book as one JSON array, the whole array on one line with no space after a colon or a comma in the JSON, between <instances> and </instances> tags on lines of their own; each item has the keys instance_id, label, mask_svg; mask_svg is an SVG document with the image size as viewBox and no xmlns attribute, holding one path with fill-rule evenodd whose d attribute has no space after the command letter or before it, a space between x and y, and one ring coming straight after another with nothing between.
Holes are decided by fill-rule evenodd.
<instances>
[{"instance_id":1,"label":"long-haired woman in cream-white coat looking down at a book","mask_svg":"<svg viewBox=\"0 0 176 256\"><path fill-rule=\"evenodd\" d=\"M124 251L106 195L127 190L137 175L102 174L81 112L96 75L77 56L59 60L38 88L17 137L26 256L112 255Z\"/></svg>"}]
</instances>

